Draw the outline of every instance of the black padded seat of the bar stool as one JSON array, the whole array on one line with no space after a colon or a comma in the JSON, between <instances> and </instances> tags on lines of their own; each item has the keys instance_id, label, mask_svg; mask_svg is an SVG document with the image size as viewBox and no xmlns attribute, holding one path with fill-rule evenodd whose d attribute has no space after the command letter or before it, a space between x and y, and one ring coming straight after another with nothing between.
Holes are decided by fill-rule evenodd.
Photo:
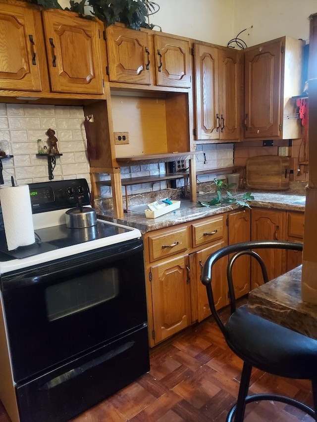
<instances>
[{"instance_id":1,"label":"black padded seat of the bar stool","mask_svg":"<svg viewBox=\"0 0 317 422\"><path fill-rule=\"evenodd\" d=\"M317 340L250 314L247 305L225 327L230 348L252 366L287 378L317 377Z\"/></svg>"}]
</instances>

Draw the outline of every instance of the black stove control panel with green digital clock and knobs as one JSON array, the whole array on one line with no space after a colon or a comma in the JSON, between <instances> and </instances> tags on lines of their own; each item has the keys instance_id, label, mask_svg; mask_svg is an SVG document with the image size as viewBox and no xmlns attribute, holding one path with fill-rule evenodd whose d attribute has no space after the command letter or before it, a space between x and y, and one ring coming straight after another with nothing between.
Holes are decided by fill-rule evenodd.
<instances>
[{"instance_id":1,"label":"black stove control panel with green digital clock and knobs","mask_svg":"<svg viewBox=\"0 0 317 422\"><path fill-rule=\"evenodd\" d=\"M33 214L90 204L86 179L56 180L29 184Z\"/></svg>"}]
</instances>

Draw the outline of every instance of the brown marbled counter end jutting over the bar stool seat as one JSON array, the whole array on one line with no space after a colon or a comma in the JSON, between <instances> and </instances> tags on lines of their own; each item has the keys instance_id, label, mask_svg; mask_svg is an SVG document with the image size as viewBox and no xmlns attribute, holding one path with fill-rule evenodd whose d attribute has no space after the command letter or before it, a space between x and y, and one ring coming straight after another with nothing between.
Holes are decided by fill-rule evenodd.
<instances>
[{"instance_id":1,"label":"brown marbled counter end jutting over the bar stool seat","mask_svg":"<svg viewBox=\"0 0 317 422\"><path fill-rule=\"evenodd\" d=\"M302 266L249 293L249 312L317 339L317 306L301 297Z\"/></svg>"}]
</instances>

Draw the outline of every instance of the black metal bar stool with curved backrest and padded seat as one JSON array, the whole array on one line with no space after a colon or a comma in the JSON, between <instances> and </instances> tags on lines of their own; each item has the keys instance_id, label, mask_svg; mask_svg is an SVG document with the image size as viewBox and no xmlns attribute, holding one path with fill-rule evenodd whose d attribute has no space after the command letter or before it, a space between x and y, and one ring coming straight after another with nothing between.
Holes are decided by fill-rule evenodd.
<instances>
[{"instance_id":1,"label":"black metal bar stool with curved backrest and padded seat","mask_svg":"<svg viewBox=\"0 0 317 422\"><path fill-rule=\"evenodd\" d=\"M252 368L287 378L310 379L312 382L314 408L317 409L317 340L291 329L272 323L258 315L250 314L247 305L236 309L232 267L242 255L249 255L259 263L264 283L267 271L258 250L264 248L303 250L303 243L288 241L252 241L225 246L211 254L204 265L202 282L207 289L208 303L218 327L231 350L243 360L237 403L230 409L227 422L242 422L246 404L270 400L280 401L302 410L317 421L317 412L304 403L276 394L248 396ZM255 252L253 249L257 249ZM221 321L213 300L212 267L221 258L231 256L227 265L227 281L230 299L230 317Z\"/></svg>"}]
</instances>

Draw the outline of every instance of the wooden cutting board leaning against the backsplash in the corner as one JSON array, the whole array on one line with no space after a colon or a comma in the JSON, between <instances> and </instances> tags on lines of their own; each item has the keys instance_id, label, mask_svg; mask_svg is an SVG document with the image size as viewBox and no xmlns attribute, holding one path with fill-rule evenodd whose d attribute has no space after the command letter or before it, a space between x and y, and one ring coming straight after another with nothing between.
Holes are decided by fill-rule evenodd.
<instances>
[{"instance_id":1,"label":"wooden cutting board leaning against the backsplash in the corner","mask_svg":"<svg viewBox=\"0 0 317 422\"><path fill-rule=\"evenodd\" d=\"M248 158L246 187L263 190L288 189L289 157L259 155Z\"/></svg>"}]
</instances>

